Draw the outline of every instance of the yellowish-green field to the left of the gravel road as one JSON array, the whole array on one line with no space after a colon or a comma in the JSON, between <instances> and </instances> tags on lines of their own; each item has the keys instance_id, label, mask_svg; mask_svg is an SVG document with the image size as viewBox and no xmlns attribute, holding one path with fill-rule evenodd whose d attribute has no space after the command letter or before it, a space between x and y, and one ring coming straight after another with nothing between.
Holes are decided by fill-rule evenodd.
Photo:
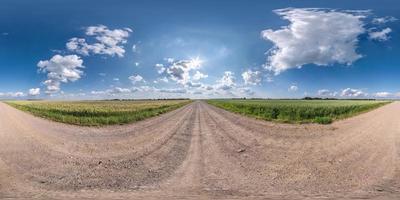
<instances>
[{"instance_id":1,"label":"yellowish-green field to the left of the gravel road","mask_svg":"<svg viewBox=\"0 0 400 200\"><path fill-rule=\"evenodd\" d=\"M177 109L189 100L154 101L8 101L7 104L50 120L83 126L127 124Z\"/></svg>"}]
</instances>

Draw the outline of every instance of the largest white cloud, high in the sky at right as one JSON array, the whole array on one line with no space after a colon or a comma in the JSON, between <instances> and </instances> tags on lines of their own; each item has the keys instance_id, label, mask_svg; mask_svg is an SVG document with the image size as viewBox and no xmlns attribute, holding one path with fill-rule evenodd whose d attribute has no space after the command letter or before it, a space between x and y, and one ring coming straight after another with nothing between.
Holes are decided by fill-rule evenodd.
<instances>
[{"instance_id":1,"label":"largest white cloud, high in the sky at right","mask_svg":"<svg viewBox=\"0 0 400 200\"><path fill-rule=\"evenodd\" d=\"M358 36L365 33L365 12L287 8L275 13L290 22L262 31L262 37L274 43L265 67L275 74L305 64L351 64L361 58L356 48Z\"/></svg>"}]
</instances>

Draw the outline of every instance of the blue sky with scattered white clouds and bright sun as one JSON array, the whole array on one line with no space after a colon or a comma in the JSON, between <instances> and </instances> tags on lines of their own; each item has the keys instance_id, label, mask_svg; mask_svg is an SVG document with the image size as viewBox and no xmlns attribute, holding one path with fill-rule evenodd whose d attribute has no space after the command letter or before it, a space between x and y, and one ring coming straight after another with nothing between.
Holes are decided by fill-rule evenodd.
<instances>
[{"instance_id":1,"label":"blue sky with scattered white clouds and bright sun","mask_svg":"<svg viewBox=\"0 0 400 200\"><path fill-rule=\"evenodd\" d=\"M0 98L400 97L396 0L0 3Z\"/></svg>"}]
</instances>

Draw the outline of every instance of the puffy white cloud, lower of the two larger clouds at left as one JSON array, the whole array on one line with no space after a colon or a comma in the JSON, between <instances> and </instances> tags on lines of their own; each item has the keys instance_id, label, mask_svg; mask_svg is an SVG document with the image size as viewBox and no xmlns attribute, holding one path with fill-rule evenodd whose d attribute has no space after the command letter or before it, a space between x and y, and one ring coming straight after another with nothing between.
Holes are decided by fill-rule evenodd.
<instances>
[{"instance_id":1,"label":"puffy white cloud, lower of the two larger clouds at left","mask_svg":"<svg viewBox=\"0 0 400 200\"><path fill-rule=\"evenodd\" d=\"M55 55L50 60L39 61L37 66L43 73L47 72L46 93L60 91L61 83L74 82L81 78L84 68L82 59L77 55Z\"/></svg>"}]
</instances>

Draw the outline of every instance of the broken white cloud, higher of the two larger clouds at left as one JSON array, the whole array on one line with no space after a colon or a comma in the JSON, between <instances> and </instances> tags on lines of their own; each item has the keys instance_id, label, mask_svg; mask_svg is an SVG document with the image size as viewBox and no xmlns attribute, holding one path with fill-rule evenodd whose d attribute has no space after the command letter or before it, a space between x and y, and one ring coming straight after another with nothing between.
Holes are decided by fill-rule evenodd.
<instances>
[{"instance_id":1,"label":"broken white cloud, higher of the two larger clouds at left","mask_svg":"<svg viewBox=\"0 0 400 200\"><path fill-rule=\"evenodd\" d=\"M71 38L66 47L68 50L82 55L104 54L109 56L123 57L125 49L123 44L127 42L129 28L111 30L107 26L89 26L86 35L96 39L95 43L89 44L84 38Z\"/></svg>"}]
</instances>

